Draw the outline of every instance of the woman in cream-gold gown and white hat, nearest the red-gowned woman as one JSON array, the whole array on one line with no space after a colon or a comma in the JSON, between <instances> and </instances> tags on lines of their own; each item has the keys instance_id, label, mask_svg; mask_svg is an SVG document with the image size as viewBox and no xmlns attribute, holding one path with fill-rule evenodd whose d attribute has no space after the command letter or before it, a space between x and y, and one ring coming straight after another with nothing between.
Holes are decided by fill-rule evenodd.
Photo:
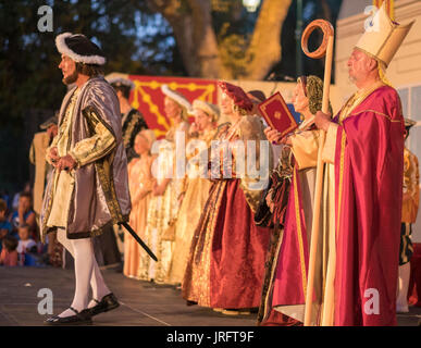
<instances>
[{"instance_id":1,"label":"woman in cream-gold gown and white hat, nearest the red-gowned woman","mask_svg":"<svg viewBox=\"0 0 421 348\"><path fill-rule=\"evenodd\" d=\"M175 223L175 245L171 263L170 282L181 284L190 251L191 238L199 222L200 214L209 197L211 182L205 177L208 172L207 153L211 140L216 134L219 108L209 102L196 99L193 103L193 114L198 136L187 145L186 157L189 166L185 182L183 200ZM199 141L197 141L199 140ZM205 160L203 160L205 154Z\"/></svg>"}]
</instances>

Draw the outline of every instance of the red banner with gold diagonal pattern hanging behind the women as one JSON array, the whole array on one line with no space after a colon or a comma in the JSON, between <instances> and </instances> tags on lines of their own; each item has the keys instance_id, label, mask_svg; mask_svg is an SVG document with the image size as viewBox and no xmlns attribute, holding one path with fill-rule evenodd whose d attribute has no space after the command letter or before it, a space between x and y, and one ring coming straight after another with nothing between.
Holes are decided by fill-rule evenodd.
<instances>
[{"instance_id":1,"label":"red banner with gold diagonal pattern hanging behind the women","mask_svg":"<svg viewBox=\"0 0 421 348\"><path fill-rule=\"evenodd\" d=\"M131 94L131 104L141 112L149 128L156 130L158 138L162 138L171 125L163 109L162 85L166 84L171 89L183 94L190 103L195 99L218 103L216 80L214 79L140 75L128 77L136 86ZM193 117L189 121L193 122Z\"/></svg>"}]
</instances>

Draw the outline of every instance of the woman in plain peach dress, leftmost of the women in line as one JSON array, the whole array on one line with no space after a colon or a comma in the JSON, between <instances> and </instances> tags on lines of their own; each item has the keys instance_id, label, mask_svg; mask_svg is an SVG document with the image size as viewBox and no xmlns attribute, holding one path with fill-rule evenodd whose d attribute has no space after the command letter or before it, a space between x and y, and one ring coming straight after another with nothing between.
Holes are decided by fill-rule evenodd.
<instances>
[{"instance_id":1,"label":"woman in plain peach dress, leftmost of the women in line","mask_svg":"<svg viewBox=\"0 0 421 348\"><path fill-rule=\"evenodd\" d=\"M145 238L146 220L148 207L151 199L154 178L151 173L153 157L150 148L156 140L153 130L145 129L135 137L134 150L140 156L128 163L128 188L132 198L132 212L129 216L131 226L137 232L141 239ZM124 269L123 274L138 278L140 269L139 244L133 236L125 232L124 236Z\"/></svg>"}]
</instances>

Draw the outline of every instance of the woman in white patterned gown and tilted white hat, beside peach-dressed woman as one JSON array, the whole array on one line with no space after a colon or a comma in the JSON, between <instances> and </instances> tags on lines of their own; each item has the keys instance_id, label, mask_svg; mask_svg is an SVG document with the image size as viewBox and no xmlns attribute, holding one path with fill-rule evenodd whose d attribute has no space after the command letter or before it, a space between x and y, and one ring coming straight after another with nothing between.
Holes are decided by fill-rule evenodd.
<instances>
[{"instance_id":1,"label":"woman in white patterned gown and tilted white hat, beside peach-dressed woman","mask_svg":"<svg viewBox=\"0 0 421 348\"><path fill-rule=\"evenodd\" d=\"M148 254L140 256L140 278L153 281L158 284L169 283L169 272L174 249L174 222L179 208L184 177L176 174L176 141L185 137L188 139L187 112L191 109L187 99L170 89L166 85L161 88L164 99L164 110L171 120L172 126L165 135L165 139L157 141L152 147L152 153L158 153L152 164L152 173L156 184L152 188L152 198L149 204L145 241L157 256L154 262Z\"/></svg>"}]
</instances>

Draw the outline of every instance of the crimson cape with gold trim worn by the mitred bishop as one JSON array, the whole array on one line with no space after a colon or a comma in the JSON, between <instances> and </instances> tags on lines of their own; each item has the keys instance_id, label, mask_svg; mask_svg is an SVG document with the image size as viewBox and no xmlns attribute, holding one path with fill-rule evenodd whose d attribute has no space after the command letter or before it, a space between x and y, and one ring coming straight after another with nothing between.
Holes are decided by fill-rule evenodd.
<instances>
[{"instance_id":1,"label":"crimson cape with gold trim worn by the mitred bishop","mask_svg":"<svg viewBox=\"0 0 421 348\"><path fill-rule=\"evenodd\" d=\"M338 123L335 325L397 324L404 130L399 97L388 86Z\"/></svg>"}]
</instances>

